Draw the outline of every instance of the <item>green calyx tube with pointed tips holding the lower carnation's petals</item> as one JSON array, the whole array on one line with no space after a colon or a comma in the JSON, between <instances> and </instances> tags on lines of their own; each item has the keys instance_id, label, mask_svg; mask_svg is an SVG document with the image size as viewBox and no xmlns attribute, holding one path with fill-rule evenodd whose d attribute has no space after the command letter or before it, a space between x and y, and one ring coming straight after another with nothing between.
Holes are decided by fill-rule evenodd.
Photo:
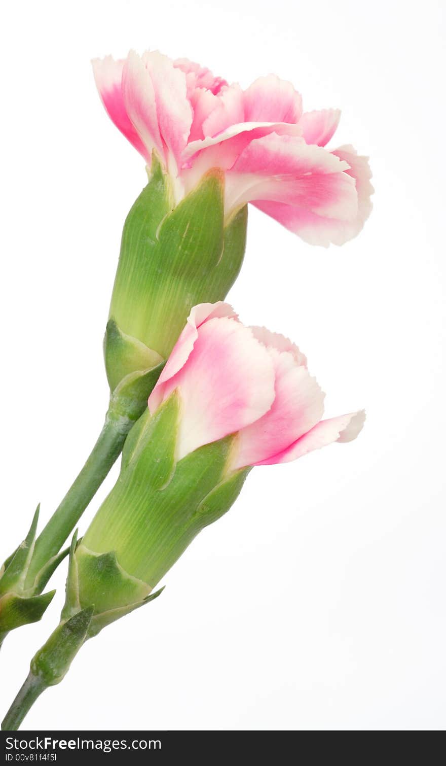
<instances>
[{"instance_id":1,"label":"green calyx tube with pointed tips holding the lower carnation's petals","mask_svg":"<svg viewBox=\"0 0 446 766\"><path fill-rule=\"evenodd\" d=\"M210 493L226 475L234 437L205 444L177 461L180 411L174 391L154 416L146 411L135 424L125 442L119 480L83 538L90 551L115 551L119 565L151 588L200 529L229 508L246 476L234 474L213 499ZM204 506L198 511L206 498L207 514ZM219 499L222 506L216 509ZM82 583L80 578L80 591Z\"/></svg>"}]
</instances>

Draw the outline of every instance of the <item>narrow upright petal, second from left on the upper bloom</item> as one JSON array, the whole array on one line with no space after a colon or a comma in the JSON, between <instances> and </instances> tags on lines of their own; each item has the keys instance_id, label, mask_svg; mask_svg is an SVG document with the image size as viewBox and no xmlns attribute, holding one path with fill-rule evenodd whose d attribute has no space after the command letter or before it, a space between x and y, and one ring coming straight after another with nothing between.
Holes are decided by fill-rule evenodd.
<instances>
[{"instance_id":1,"label":"narrow upright petal, second from left on the upper bloom","mask_svg":"<svg viewBox=\"0 0 446 766\"><path fill-rule=\"evenodd\" d=\"M142 58L130 51L122 70L122 97L138 136L145 146L145 157L150 160L152 149L164 157L164 146L158 127L155 89Z\"/></svg>"}]
</instances>

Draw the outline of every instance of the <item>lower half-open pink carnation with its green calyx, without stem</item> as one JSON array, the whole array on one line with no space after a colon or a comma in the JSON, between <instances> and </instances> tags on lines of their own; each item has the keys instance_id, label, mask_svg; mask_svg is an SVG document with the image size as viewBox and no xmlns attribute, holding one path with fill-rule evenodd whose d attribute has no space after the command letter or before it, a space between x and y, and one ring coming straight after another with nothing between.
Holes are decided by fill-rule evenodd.
<instances>
[{"instance_id":1,"label":"lower half-open pink carnation with its green calyx, without stem","mask_svg":"<svg viewBox=\"0 0 446 766\"><path fill-rule=\"evenodd\" d=\"M323 400L284 336L243 326L225 303L195 306L125 441L116 486L73 548L65 617L94 604L96 634L147 601L253 465L353 439L363 413L321 421Z\"/></svg>"}]
</instances>

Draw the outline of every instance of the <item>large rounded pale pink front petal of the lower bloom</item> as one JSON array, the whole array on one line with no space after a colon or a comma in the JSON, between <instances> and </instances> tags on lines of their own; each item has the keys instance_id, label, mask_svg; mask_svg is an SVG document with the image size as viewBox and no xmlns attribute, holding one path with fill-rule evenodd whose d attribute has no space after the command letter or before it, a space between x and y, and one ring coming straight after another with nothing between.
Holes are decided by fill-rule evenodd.
<instances>
[{"instance_id":1,"label":"large rounded pale pink front petal of the lower bloom","mask_svg":"<svg viewBox=\"0 0 446 766\"><path fill-rule=\"evenodd\" d=\"M163 398L181 396L177 459L258 420L274 401L269 352L249 328L234 319L209 319Z\"/></svg>"}]
</instances>

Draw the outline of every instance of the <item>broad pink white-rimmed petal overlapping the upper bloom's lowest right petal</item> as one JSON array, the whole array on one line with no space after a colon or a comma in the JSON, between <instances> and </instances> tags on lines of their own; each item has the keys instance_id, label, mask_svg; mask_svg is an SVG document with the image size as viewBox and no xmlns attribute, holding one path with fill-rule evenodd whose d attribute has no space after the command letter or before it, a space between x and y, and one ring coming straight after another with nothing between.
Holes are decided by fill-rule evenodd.
<instances>
[{"instance_id":1,"label":"broad pink white-rimmed petal overlapping the upper bloom's lowest right petal","mask_svg":"<svg viewBox=\"0 0 446 766\"><path fill-rule=\"evenodd\" d=\"M355 183L343 172L347 162L334 159L297 136L254 139L226 175L226 211L270 200L350 221L357 213Z\"/></svg>"}]
</instances>

